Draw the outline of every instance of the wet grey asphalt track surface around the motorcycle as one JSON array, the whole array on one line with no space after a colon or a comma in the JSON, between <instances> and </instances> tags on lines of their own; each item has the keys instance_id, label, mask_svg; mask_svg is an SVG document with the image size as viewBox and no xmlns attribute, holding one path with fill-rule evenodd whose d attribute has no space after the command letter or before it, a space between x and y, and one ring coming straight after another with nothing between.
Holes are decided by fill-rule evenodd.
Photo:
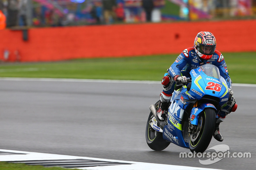
<instances>
[{"instance_id":1,"label":"wet grey asphalt track surface around the motorcycle","mask_svg":"<svg viewBox=\"0 0 256 170\"><path fill-rule=\"evenodd\" d=\"M224 158L202 165L175 144L151 150L145 140L149 105L162 85L0 80L0 149L227 170L255 169L256 87L233 86L238 108L220 124L230 152L252 158Z\"/></svg>"}]
</instances>

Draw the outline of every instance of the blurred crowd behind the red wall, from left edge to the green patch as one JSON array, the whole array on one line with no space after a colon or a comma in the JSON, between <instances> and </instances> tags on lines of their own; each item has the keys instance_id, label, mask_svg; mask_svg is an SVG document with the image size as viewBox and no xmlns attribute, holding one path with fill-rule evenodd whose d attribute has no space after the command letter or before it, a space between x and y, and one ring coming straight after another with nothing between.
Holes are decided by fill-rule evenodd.
<instances>
[{"instance_id":1,"label":"blurred crowd behind the red wall, from left edge to the green patch","mask_svg":"<svg viewBox=\"0 0 256 170\"><path fill-rule=\"evenodd\" d=\"M41 0L42 2L42 0ZM151 21L165 0L2 0L0 10L12 26L68 26Z\"/></svg>"}]
</instances>

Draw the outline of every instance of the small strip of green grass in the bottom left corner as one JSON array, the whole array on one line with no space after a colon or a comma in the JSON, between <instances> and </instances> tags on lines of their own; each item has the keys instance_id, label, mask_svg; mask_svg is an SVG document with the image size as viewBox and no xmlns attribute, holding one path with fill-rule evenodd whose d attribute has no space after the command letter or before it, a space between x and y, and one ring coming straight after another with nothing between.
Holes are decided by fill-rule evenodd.
<instances>
[{"instance_id":1,"label":"small strip of green grass in the bottom left corner","mask_svg":"<svg viewBox=\"0 0 256 170\"><path fill-rule=\"evenodd\" d=\"M0 162L1 170L65 170L61 167L44 167L40 165L26 165L21 163ZM73 170L73 169L72 169ZM78 170L78 169L74 169Z\"/></svg>"}]
</instances>

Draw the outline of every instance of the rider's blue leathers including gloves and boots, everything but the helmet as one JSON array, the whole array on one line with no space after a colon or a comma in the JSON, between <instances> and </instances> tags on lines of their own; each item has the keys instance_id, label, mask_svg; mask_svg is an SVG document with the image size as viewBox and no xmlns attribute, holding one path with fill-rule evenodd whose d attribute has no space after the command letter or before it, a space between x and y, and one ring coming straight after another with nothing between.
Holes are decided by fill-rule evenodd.
<instances>
[{"instance_id":1,"label":"rider's blue leathers including gloves and boots, everything but the helmet","mask_svg":"<svg viewBox=\"0 0 256 170\"><path fill-rule=\"evenodd\" d=\"M186 48L182 51L182 53L177 57L175 62L167 70L168 75L165 76L162 80L163 92L160 94L160 102L158 105L158 120L164 121L166 117L166 106L168 106L167 103L170 101L172 97L172 92L175 89L176 82L180 81L181 83L186 83L186 77L190 77L190 70L196 69L203 64L213 64L219 68L220 76L222 76L226 80L229 93L231 96L233 95L233 91L231 90L232 81L228 75L227 64L220 51L215 50L215 53L212 55L210 59L204 60L196 54L194 47ZM215 132L213 136L216 140L220 142L223 141L223 137L219 131L219 124L220 122L224 121L227 114L233 111L233 107L235 106L235 104L235 98L232 96L231 100L229 100L226 104L224 104L224 106L222 106L221 112L218 114L218 119L216 119Z\"/></svg>"}]
</instances>

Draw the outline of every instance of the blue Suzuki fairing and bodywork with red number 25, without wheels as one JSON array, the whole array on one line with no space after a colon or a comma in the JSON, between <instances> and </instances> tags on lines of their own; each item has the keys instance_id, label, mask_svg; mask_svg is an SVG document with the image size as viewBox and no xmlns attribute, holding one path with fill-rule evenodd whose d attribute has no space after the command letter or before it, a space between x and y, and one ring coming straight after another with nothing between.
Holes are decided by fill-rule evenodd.
<instances>
[{"instance_id":1,"label":"blue Suzuki fairing and bodywork with red number 25, without wheels","mask_svg":"<svg viewBox=\"0 0 256 170\"><path fill-rule=\"evenodd\" d=\"M216 72L216 74L211 75L209 73L211 69L213 69L212 73ZM190 71L191 85L183 85L179 90L173 92L172 103L168 108L168 125L165 125L163 129L163 138L165 140L178 146L189 148L182 132L183 115L189 113L190 123L194 125L197 125L198 118L206 107L214 108L217 116L219 108L216 108L217 106L214 106L210 101L204 100L204 102L199 102L198 106L194 104L196 101L209 96L219 100L218 106L222 106L228 101L228 85L225 79L218 74L218 71L218 68L212 64L206 64L193 69Z\"/></svg>"}]
</instances>

